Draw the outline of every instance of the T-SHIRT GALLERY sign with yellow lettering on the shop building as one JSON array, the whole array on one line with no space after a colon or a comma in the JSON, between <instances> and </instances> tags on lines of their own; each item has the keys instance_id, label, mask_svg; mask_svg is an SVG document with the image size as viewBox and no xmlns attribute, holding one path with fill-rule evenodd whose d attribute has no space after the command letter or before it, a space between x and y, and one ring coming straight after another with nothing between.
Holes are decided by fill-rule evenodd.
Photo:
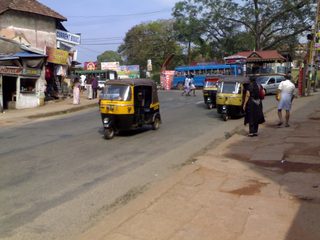
<instances>
[{"instance_id":1,"label":"T-SHIRT GALLERY sign with yellow lettering on the shop building","mask_svg":"<svg viewBox=\"0 0 320 240\"><path fill-rule=\"evenodd\" d=\"M48 56L48 62L71 66L73 52L67 52L60 49L45 46L45 54Z\"/></svg>"}]
</instances>

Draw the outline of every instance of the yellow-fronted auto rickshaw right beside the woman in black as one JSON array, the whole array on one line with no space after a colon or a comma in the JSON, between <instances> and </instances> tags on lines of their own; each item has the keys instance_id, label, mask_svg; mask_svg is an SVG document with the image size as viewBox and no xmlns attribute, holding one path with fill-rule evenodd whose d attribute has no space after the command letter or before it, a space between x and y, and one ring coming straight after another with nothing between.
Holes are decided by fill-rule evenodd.
<instances>
[{"instance_id":1,"label":"yellow-fronted auto rickshaw right beside the woman in black","mask_svg":"<svg viewBox=\"0 0 320 240\"><path fill-rule=\"evenodd\" d=\"M218 82L216 95L217 112L224 121L228 117L244 114L243 103L249 78L243 76L222 76Z\"/></svg>"}]
</instances>

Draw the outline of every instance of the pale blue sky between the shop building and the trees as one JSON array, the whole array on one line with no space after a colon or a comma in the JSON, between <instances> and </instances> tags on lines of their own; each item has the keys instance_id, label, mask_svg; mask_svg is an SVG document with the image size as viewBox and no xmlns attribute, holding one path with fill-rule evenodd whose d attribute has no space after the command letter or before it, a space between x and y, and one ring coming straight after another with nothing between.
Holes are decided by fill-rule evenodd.
<instances>
[{"instance_id":1,"label":"pale blue sky between the shop building and the trees","mask_svg":"<svg viewBox=\"0 0 320 240\"><path fill-rule=\"evenodd\" d=\"M96 61L101 53L117 51L125 34L144 21L172 18L179 0L37 0L66 17L62 25L74 34L81 33L77 61ZM89 45L94 44L94 45ZM99 45L98 45L99 44Z\"/></svg>"}]
</instances>

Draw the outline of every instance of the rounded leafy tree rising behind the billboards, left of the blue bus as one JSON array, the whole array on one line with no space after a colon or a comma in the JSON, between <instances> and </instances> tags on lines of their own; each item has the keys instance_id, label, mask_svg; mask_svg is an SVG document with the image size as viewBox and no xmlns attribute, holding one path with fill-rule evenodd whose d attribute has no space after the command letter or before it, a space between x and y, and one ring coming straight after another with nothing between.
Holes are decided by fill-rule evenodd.
<instances>
[{"instance_id":1,"label":"rounded leafy tree rising behind the billboards, left of the blue bus","mask_svg":"<svg viewBox=\"0 0 320 240\"><path fill-rule=\"evenodd\" d=\"M140 76L147 70L147 60L152 60L152 71L160 71L164 61L171 53L176 56L167 69L174 69L175 64L183 59L182 47L177 43L173 29L174 20L142 22L132 27L124 38L124 44L118 47L127 65L140 65Z\"/></svg>"}]
</instances>

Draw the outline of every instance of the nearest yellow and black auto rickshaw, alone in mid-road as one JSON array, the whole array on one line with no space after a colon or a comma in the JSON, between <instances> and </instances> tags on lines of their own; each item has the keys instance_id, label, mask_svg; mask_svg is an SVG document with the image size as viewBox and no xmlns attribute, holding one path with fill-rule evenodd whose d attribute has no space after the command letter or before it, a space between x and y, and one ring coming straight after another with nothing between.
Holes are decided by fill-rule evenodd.
<instances>
[{"instance_id":1,"label":"nearest yellow and black auto rickshaw, alone in mid-road","mask_svg":"<svg viewBox=\"0 0 320 240\"><path fill-rule=\"evenodd\" d=\"M112 139L119 130L132 130L145 124L157 130L161 116L155 81L109 80L101 96L100 112L106 139Z\"/></svg>"}]
</instances>

